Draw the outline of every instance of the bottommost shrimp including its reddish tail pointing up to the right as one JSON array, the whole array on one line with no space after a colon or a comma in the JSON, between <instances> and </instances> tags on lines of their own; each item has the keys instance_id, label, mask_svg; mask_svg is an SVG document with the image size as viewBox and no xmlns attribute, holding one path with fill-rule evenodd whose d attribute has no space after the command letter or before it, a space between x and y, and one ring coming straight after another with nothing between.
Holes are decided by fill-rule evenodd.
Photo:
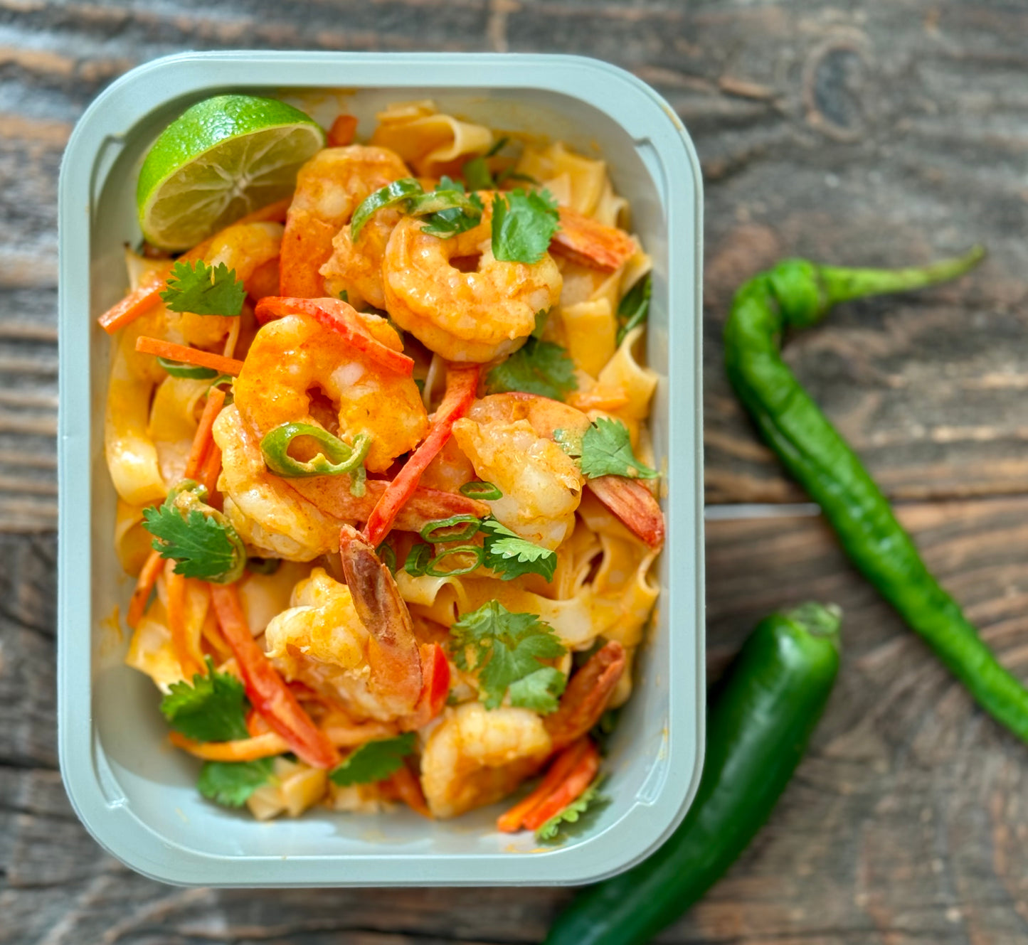
<instances>
[{"instance_id":1,"label":"bottommost shrimp including its reddish tail pointing up to the right","mask_svg":"<svg viewBox=\"0 0 1028 945\"><path fill-rule=\"evenodd\" d=\"M429 808L436 817L456 817L517 790L596 724L624 666L624 647L607 643L572 676L551 715L511 707L490 711L477 702L449 712L421 755Z\"/></svg>"}]
</instances>

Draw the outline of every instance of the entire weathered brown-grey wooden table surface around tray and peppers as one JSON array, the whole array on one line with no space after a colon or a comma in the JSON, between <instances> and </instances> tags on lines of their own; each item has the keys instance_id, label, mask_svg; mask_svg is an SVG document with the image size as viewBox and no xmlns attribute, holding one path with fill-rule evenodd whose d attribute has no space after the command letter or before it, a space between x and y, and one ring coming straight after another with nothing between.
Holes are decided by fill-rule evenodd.
<instances>
[{"instance_id":1,"label":"entire weathered brown-grey wooden table surface around tray and peppers","mask_svg":"<svg viewBox=\"0 0 1028 945\"><path fill-rule=\"evenodd\" d=\"M706 179L711 671L776 606L831 599L847 618L840 684L781 804L660 941L1028 941L1028 748L971 706L797 504L729 391L720 342L734 287L782 255L907 264L988 243L971 276L848 305L787 357L929 565L1028 675L1026 36L1028 8L1008 0L0 0L0 942L537 942L570 895L172 889L103 854L65 798L58 167L113 78L222 47L579 52L667 97Z\"/></svg>"}]
</instances>

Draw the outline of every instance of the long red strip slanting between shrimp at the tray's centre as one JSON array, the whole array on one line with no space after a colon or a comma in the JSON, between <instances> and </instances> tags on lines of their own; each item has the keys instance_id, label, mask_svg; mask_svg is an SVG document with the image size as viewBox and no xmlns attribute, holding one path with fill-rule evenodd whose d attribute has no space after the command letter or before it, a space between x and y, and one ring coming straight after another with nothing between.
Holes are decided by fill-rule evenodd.
<instances>
[{"instance_id":1,"label":"long red strip slanting between shrimp at the tray's centre","mask_svg":"<svg viewBox=\"0 0 1028 945\"><path fill-rule=\"evenodd\" d=\"M450 365L446 375L446 393L433 415L429 436L404 463L396 479L389 484L375 507L371 509L371 515L364 526L364 537L376 547L393 528L400 509L413 495L421 474L446 445L446 441L453 432L453 424L474 403L481 371L480 365L460 368Z\"/></svg>"}]
</instances>

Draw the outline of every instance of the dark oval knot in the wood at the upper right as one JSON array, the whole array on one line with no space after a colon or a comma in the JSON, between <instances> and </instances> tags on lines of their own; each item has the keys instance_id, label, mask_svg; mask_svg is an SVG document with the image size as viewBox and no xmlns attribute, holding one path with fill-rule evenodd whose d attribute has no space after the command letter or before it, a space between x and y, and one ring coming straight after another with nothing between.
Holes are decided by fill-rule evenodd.
<instances>
[{"instance_id":1,"label":"dark oval knot in the wood at the upper right","mask_svg":"<svg viewBox=\"0 0 1028 945\"><path fill-rule=\"evenodd\" d=\"M836 141L858 140L869 123L866 103L873 74L862 33L839 33L816 46L803 70L807 123Z\"/></svg>"}]
</instances>

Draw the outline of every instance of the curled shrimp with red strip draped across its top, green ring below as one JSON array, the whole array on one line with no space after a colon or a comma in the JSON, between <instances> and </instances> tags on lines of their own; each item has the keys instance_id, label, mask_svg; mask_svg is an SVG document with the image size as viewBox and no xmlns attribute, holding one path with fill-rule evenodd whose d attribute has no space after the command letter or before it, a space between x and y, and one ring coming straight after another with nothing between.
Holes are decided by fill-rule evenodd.
<instances>
[{"instance_id":1,"label":"curled shrimp with red strip draped across its top, green ring below","mask_svg":"<svg viewBox=\"0 0 1028 945\"><path fill-rule=\"evenodd\" d=\"M353 314L376 340L400 350L400 338L384 318ZM313 392L332 402L334 416L319 408ZM240 415L261 437L291 421L333 426L336 420L340 437L370 434L365 464L373 472L388 469L429 428L411 378L374 364L306 315L286 315L261 328L234 393Z\"/></svg>"}]
</instances>

